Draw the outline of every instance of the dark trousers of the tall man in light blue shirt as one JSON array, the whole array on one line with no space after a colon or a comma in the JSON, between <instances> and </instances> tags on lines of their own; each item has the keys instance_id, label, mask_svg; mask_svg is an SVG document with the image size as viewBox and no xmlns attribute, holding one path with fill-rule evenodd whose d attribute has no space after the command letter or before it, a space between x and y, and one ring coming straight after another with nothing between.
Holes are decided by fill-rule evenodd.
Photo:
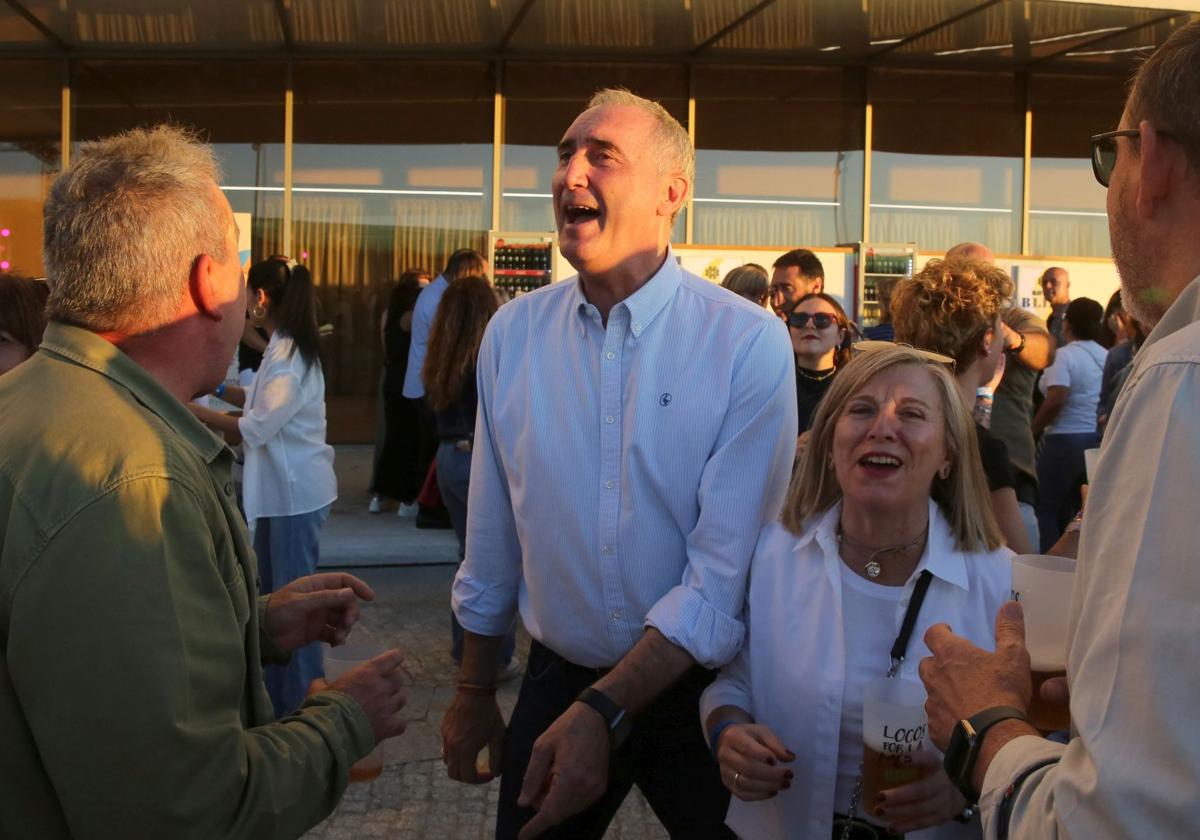
<instances>
[{"instance_id":1,"label":"dark trousers of the tall man in light blue shirt","mask_svg":"<svg viewBox=\"0 0 1200 840\"><path fill-rule=\"evenodd\" d=\"M535 812L517 805L533 743L602 673L572 665L538 642L529 647L521 695L504 738L497 840L516 838ZM700 724L700 695L713 677L712 671L695 667L643 709L629 739L611 757L608 790L592 806L542 836L600 840L630 788L637 785L672 838L733 838L725 827L730 792L721 785Z\"/></svg>"}]
</instances>

